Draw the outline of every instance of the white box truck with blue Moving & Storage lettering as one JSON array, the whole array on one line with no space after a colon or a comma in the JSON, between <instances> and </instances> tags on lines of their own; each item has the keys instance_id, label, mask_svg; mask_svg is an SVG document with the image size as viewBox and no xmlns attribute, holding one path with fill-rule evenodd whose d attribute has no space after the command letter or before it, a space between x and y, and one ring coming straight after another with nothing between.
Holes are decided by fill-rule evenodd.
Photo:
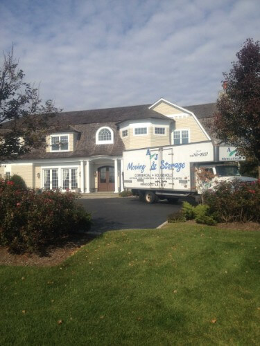
<instances>
[{"instance_id":1,"label":"white box truck with blue Moving & Storage lettering","mask_svg":"<svg viewBox=\"0 0 260 346\"><path fill-rule=\"evenodd\" d=\"M218 181L254 181L239 174L237 163L244 160L235 147L216 146L211 141L126 150L123 152L124 188L147 203L195 197L202 192L196 174L201 167ZM214 185L214 179L209 185Z\"/></svg>"}]
</instances>

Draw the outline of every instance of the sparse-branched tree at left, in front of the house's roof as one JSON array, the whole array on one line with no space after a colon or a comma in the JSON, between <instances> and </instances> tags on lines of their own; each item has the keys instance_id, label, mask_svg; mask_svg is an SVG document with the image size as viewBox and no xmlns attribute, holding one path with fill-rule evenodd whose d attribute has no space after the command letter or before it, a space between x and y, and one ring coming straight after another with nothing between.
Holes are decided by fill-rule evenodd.
<instances>
[{"instance_id":1,"label":"sparse-branched tree at left, in front of the house's roof","mask_svg":"<svg viewBox=\"0 0 260 346\"><path fill-rule=\"evenodd\" d=\"M24 72L3 53L0 67L0 162L45 145L48 120L59 110L51 100L42 103L38 89L24 82Z\"/></svg>"}]
</instances>

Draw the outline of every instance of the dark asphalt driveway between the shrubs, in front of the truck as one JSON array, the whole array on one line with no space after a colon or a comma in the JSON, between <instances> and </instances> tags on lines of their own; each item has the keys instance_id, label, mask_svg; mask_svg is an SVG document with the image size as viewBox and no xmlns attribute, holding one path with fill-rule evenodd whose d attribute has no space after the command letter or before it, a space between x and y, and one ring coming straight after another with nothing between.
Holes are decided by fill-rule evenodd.
<instances>
[{"instance_id":1,"label":"dark asphalt driveway between the shrubs, in front of the truck","mask_svg":"<svg viewBox=\"0 0 260 346\"><path fill-rule=\"evenodd\" d=\"M171 212L180 210L181 202L159 201L147 204L138 197L112 199L80 199L85 210L92 213L93 231L123 230L129 228L156 228Z\"/></svg>"}]
</instances>

